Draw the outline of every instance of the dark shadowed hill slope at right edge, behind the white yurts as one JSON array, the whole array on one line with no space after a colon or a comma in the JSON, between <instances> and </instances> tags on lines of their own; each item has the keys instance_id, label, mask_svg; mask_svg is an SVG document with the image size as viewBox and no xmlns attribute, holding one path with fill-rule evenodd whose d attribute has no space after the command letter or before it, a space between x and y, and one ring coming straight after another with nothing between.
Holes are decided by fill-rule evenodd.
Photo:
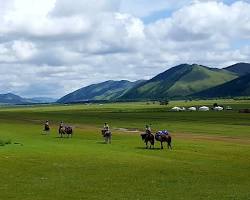
<instances>
[{"instance_id":1,"label":"dark shadowed hill slope at right edge, behind the white yurts","mask_svg":"<svg viewBox=\"0 0 250 200\"><path fill-rule=\"evenodd\" d=\"M250 96L250 74L192 96L199 98Z\"/></svg>"}]
</instances>

